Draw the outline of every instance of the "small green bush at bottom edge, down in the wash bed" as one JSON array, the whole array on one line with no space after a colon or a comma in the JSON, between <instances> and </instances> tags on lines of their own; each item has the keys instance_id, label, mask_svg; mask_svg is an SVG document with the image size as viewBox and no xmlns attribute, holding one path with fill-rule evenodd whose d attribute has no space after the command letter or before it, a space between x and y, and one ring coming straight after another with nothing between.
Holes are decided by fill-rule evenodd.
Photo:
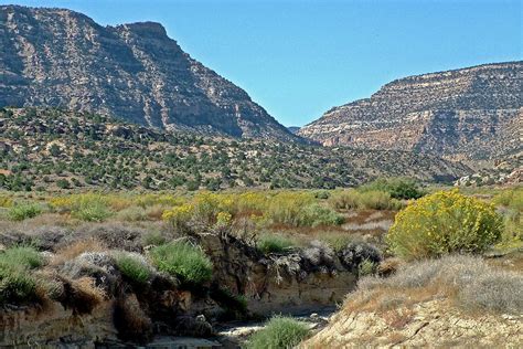
<instances>
[{"instance_id":1,"label":"small green bush at bottom edge, down in the wash bed","mask_svg":"<svg viewBox=\"0 0 523 349\"><path fill-rule=\"evenodd\" d=\"M247 348L293 348L309 335L307 324L289 317L275 316L265 328L250 336Z\"/></svg>"}]
</instances>

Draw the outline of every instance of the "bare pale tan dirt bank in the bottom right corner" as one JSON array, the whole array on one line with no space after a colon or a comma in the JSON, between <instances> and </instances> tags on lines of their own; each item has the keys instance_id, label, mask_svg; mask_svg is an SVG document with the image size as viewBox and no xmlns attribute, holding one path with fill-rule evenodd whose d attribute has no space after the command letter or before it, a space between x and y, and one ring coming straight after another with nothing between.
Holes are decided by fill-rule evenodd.
<instances>
[{"instance_id":1,"label":"bare pale tan dirt bank in the bottom right corner","mask_svg":"<svg viewBox=\"0 0 523 349\"><path fill-rule=\"evenodd\" d=\"M299 348L517 348L523 318L482 313L466 315L444 300L376 314L338 314L330 325Z\"/></svg>"}]
</instances>

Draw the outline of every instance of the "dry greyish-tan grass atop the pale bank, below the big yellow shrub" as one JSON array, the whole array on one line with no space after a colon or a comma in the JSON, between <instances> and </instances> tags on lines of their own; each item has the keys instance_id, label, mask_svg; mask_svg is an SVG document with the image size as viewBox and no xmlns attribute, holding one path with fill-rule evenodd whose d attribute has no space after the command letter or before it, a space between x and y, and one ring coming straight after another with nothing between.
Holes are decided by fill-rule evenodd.
<instances>
[{"instance_id":1,"label":"dry greyish-tan grass atop the pale bank, below the big yellow shrub","mask_svg":"<svg viewBox=\"0 0 523 349\"><path fill-rule=\"evenodd\" d=\"M517 314L523 310L523 275L492 268L480 257L417 262L388 278L362 278L343 311L384 313L438 298L471 313Z\"/></svg>"}]
</instances>

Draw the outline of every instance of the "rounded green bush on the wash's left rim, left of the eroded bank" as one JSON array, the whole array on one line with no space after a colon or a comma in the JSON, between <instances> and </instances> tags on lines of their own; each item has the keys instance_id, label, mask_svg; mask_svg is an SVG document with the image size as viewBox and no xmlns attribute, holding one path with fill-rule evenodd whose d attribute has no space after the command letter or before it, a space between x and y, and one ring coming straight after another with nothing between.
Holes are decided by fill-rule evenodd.
<instances>
[{"instance_id":1,"label":"rounded green bush on the wash's left rim, left of the eroded bank","mask_svg":"<svg viewBox=\"0 0 523 349\"><path fill-rule=\"evenodd\" d=\"M199 285L212 278L211 260L202 248L188 241L156 246L150 251L150 255L159 271L174 275L183 283Z\"/></svg>"}]
</instances>

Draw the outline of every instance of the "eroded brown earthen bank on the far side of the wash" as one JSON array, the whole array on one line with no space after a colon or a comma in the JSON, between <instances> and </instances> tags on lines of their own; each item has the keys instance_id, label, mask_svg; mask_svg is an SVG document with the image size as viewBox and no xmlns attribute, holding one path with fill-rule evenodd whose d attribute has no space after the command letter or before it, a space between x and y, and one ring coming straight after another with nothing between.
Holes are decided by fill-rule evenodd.
<instances>
[{"instance_id":1,"label":"eroded brown earthen bank on the far side of the wash","mask_svg":"<svg viewBox=\"0 0 523 349\"><path fill-rule=\"evenodd\" d=\"M198 237L213 260L220 286L244 295L247 308L258 315L332 307L356 284L356 274L323 246L267 256L227 234Z\"/></svg>"}]
</instances>

